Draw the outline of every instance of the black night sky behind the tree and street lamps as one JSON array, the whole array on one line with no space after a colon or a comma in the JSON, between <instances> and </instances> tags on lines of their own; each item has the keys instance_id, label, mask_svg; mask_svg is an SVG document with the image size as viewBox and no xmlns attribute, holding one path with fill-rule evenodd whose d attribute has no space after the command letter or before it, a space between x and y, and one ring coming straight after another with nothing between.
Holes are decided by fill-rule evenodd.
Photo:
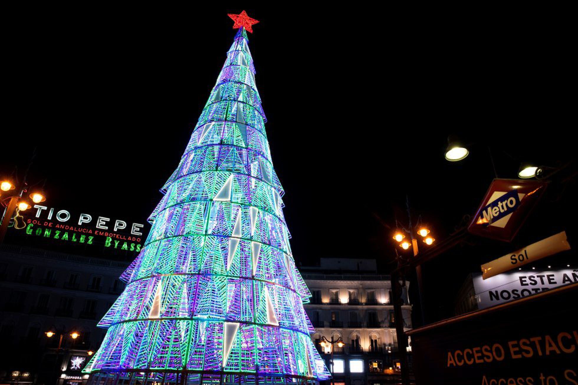
<instances>
[{"instance_id":1,"label":"black night sky behind the tree and street lamps","mask_svg":"<svg viewBox=\"0 0 578 385\"><path fill-rule=\"evenodd\" d=\"M49 206L144 223L235 35L227 13L241 10L5 14L0 175L22 172L36 146L29 180L47 178ZM405 220L406 195L443 239L486 193L490 151L499 177L516 177L521 161L575 157L564 23L483 10L246 10L261 21L250 48L303 265L391 259L387 227ZM449 134L470 143L465 161L444 160Z\"/></svg>"}]
</instances>

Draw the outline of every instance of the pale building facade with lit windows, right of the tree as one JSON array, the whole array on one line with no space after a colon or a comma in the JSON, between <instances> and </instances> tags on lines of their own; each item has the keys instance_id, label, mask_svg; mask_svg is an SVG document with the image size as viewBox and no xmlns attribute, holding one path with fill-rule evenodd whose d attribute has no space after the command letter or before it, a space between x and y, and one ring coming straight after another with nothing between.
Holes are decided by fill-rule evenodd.
<instances>
[{"instance_id":1,"label":"pale building facade with lit windows, right of the tree","mask_svg":"<svg viewBox=\"0 0 578 385\"><path fill-rule=\"evenodd\" d=\"M390 276L375 273L375 260L321 258L320 266L299 269L312 293L305 305L316 328L312 338L330 370L332 347L323 338L343 341L342 347L333 346L335 383L395 381L399 358ZM408 286L406 282L402 290L405 330L412 327Z\"/></svg>"}]
</instances>

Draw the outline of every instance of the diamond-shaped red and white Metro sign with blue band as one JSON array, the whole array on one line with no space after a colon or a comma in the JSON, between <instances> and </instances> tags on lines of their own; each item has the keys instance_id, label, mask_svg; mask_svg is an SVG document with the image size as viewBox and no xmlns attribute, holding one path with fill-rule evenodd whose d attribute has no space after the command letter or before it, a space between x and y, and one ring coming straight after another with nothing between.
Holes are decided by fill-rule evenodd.
<instances>
[{"instance_id":1,"label":"diamond-shaped red and white Metro sign with blue band","mask_svg":"<svg viewBox=\"0 0 578 385\"><path fill-rule=\"evenodd\" d=\"M547 183L537 180L494 179L468 231L510 242L542 197Z\"/></svg>"}]
</instances>

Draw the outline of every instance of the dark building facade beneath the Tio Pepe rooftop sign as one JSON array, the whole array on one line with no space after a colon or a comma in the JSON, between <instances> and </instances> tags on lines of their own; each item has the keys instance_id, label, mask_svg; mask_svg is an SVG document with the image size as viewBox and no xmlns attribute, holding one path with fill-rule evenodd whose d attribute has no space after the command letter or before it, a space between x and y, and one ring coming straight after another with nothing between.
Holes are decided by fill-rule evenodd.
<instances>
[{"instance_id":1,"label":"dark building facade beneath the Tio Pepe rooftop sign","mask_svg":"<svg viewBox=\"0 0 578 385\"><path fill-rule=\"evenodd\" d=\"M97 322L123 291L127 265L0 245L0 383L86 382L80 370L102 341Z\"/></svg>"}]
</instances>

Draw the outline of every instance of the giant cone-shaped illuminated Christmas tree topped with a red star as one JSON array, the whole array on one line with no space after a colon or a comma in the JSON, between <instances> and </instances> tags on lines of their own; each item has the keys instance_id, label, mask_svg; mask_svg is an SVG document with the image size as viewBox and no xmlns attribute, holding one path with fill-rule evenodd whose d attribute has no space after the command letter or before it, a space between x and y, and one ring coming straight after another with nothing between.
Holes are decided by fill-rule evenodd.
<instances>
[{"instance_id":1,"label":"giant cone-shaped illuminated Christmas tree topped with a red star","mask_svg":"<svg viewBox=\"0 0 578 385\"><path fill-rule=\"evenodd\" d=\"M306 383L327 379L303 302L255 86L243 11L180 164L150 216L127 287L84 369L95 383Z\"/></svg>"}]
</instances>

